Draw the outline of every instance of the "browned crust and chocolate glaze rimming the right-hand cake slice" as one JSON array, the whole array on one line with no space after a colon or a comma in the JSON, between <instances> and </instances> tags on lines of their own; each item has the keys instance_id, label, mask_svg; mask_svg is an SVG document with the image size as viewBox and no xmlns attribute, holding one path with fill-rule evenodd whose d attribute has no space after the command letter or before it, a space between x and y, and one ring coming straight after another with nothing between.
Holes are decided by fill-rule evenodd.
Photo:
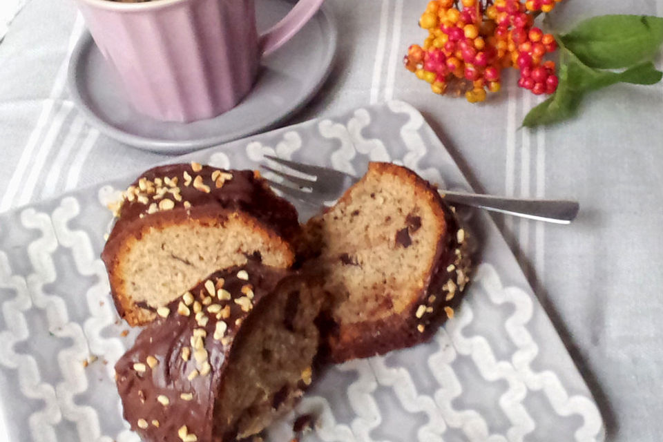
<instances>
[{"instance_id":1,"label":"browned crust and chocolate glaze rimming the right-hand cake slice","mask_svg":"<svg viewBox=\"0 0 663 442\"><path fill-rule=\"evenodd\" d=\"M410 347L429 340L439 325L453 315L453 309L459 305L461 299L459 294L468 282L470 262L464 247L465 231L459 227L454 212L434 186L410 169L390 163L371 163L368 173L349 189L337 204L351 206L354 191L360 189L371 175L392 175L397 177L403 186L412 187L417 204L430 206L438 223L437 229L443 232L443 235L436 244L432 244L435 248L434 258L425 271L421 289L401 294L406 298L407 305L399 314L347 323L338 314L338 305L332 307L331 314L325 321L327 338L324 351L327 358L334 362L385 354L393 349ZM320 253L320 250L325 248L325 238L320 237L324 222L324 215L319 215L309 220L305 226L307 246L304 254L308 255L309 259L305 267L324 268L325 260L329 260L328 256L311 258L311 254ZM396 244L410 247L410 236L420 228L421 218L408 216L405 218L405 226L396 230ZM352 262L352 257L340 255L340 259L345 260L344 264L356 265ZM383 301L387 304L378 305L377 308L390 307L388 298ZM343 300L333 302L342 304ZM374 313L367 312L366 316L374 316Z\"/></svg>"}]
</instances>

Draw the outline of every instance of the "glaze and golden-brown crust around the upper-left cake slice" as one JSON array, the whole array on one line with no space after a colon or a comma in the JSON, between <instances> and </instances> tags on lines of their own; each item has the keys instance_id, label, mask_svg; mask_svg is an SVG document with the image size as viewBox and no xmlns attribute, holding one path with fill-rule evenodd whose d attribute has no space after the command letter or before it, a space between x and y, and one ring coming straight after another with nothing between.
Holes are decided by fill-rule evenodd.
<instances>
[{"instance_id":1,"label":"glaze and golden-brown crust around the upper-left cake slice","mask_svg":"<svg viewBox=\"0 0 663 442\"><path fill-rule=\"evenodd\" d=\"M132 281L119 271L131 247L148 233L184 225L208 227L233 222L251 231L253 238L269 244L282 258L282 267L289 267L294 262L291 241L300 232L294 206L273 193L258 173L225 171L196 163L146 171L124 193L115 215L117 220L102 251L102 260L115 307L130 325L142 325L155 318L155 307L131 300L128 285ZM262 260L260 251L246 256L246 260Z\"/></svg>"}]
</instances>

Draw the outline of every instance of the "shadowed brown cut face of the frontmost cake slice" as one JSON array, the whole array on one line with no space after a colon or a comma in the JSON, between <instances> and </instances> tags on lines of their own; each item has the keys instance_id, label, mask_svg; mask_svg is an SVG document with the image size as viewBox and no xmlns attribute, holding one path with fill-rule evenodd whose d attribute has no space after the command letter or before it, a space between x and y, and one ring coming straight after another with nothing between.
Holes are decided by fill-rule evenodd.
<instances>
[{"instance_id":1,"label":"shadowed brown cut face of the frontmost cake slice","mask_svg":"<svg viewBox=\"0 0 663 442\"><path fill-rule=\"evenodd\" d=\"M321 302L305 284L286 284L262 301L265 311L258 320L242 326L229 356L214 416L216 425L236 431L238 439L257 434L291 410L310 383Z\"/></svg>"}]
</instances>

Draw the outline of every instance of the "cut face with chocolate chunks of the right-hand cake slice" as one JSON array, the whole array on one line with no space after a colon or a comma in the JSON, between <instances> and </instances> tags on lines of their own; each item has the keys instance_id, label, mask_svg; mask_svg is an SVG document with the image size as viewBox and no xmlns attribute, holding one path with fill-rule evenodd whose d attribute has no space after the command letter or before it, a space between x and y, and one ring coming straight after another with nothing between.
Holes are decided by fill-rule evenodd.
<instances>
[{"instance_id":1,"label":"cut face with chocolate chunks of the right-hand cake slice","mask_svg":"<svg viewBox=\"0 0 663 442\"><path fill-rule=\"evenodd\" d=\"M337 323L401 314L427 283L445 233L430 191L401 173L369 171L349 194L306 227L320 254Z\"/></svg>"}]
</instances>

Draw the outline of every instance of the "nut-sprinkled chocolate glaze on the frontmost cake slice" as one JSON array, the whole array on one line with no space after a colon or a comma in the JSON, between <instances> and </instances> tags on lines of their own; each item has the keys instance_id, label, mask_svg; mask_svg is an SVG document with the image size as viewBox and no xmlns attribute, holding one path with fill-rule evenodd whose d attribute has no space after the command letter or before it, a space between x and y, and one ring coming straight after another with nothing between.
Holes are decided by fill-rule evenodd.
<instances>
[{"instance_id":1,"label":"nut-sprinkled chocolate glaze on the frontmost cake slice","mask_svg":"<svg viewBox=\"0 0 663 442\"><path fill-rule=\"evenodd\" d=\"M249 309L259 309L286 274L253 262L215 272L144 329L115 365L132 430L145 441L183 441L188 434L199 442L222 439L213 432L228 429L213 428L213 410L233 342Z\"/></svg>"}]
</instances>

